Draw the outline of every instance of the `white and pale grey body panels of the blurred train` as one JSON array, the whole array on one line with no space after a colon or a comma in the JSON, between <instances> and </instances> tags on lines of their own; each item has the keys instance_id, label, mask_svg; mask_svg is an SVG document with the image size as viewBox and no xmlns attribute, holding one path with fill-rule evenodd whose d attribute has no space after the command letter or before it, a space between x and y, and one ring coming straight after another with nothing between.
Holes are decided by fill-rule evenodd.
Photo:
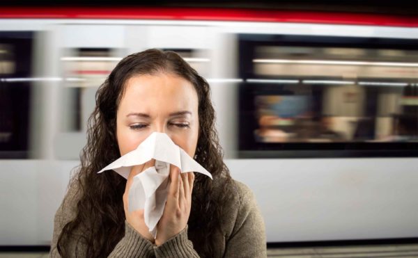
<instances>
[{"instance_id":1,"label":"white and pale grey body panels of the blurred train","mask_svg":"<svg viewBox=\"0 0 418 258\"><path fill-rule=\"evenodd\" d=\"M233 177L254 191L265 219L268 242L418 236L417 157L240 158L236 93L240 77L235 62L241 33L418 40L417 28L286 22L0 19L0 31L33 31L33 77L41 78L33 82L31 95L29 159L0 159L0 245L48 245L52 239L54 213L86 143L85 121L93 110L97 89L90 85L82 88L84 122L79 131L66 130L65 119L71 111L63 102L68 86L65 78L69 78L63 57L71 49L110 49L110 57L149 48L196 49L192 58L201 58L201 62L194 65L212 86L225 162ZM104 63L100 69L111 69L113 64Z\"/></svg>"}]
</instances>

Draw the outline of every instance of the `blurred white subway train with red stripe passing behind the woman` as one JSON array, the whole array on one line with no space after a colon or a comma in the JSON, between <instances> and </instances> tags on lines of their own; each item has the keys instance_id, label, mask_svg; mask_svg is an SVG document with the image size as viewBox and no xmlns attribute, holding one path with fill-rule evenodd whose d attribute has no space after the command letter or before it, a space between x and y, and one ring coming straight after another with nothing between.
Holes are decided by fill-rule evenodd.
<instances>
[{"instance_id":1,"label":"blurred white subway train with red stripe passing behind the woman","mask_svg":"<svg viewBox=\"0 0 418 258\"><path fill-rule=\"evenodd\" d=\"M95 91L176 51L212 88L268 243L417 239L418 19L202 8L3 8L0 245L49 245Z\"/></svg>"}]
</instances>

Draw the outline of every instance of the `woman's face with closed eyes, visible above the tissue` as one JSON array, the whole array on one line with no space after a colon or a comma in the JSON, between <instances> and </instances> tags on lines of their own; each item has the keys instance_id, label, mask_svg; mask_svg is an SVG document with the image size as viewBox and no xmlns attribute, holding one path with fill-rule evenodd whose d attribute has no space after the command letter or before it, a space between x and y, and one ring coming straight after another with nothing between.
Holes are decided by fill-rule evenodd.
<instances>
[{"instance_id":1,"label":"woman's face with closed eyes, visible above the tissue","mask_svg":"<svg viewBox=\"0 0 418 258\"><path fill-rule=\"evenodd\" d=\"M199 136L199 102L192 83L160 73L133 76L125 87L116 118L121 155L135 150L157 131L193 157Z\"/></svg>"}]
</instances>

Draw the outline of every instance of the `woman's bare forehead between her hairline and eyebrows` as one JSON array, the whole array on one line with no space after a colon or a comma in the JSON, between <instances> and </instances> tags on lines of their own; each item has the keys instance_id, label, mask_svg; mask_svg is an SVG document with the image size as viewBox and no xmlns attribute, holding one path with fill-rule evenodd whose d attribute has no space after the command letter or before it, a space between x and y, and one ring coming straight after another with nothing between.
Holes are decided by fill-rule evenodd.
<instances>
[{"instance_id":1,"label":"woman's bare forehead between her hairline and eyebrows","mask_svg":"<svg viewBox=\"0 0 418 258\"><path fill-rule=\"evenodd\" d=\"M120 109L150 113L151 111L175 111L196 109L197 92L192 83L175 74L145 74L132 76L125 83L119 103Z\"/></svg>"}]
</instances>

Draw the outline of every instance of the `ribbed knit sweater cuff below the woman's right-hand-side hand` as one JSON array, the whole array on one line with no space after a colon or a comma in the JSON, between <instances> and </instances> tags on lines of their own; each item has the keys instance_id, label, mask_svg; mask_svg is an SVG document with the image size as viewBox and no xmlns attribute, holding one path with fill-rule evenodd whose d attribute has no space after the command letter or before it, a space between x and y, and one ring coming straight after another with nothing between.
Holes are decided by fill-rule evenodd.
<instances>
[{"instance_id":1,"label":"ribbed knit sweater cuff below the woman's right-hand-side hand","mask_svg":"<svg viewBox=\"0 0 418 258\"><path fill-rule=\"evenodd\" d=\"M173 236L171 239L163 243L162 245L155 246L155 257L178 257L189 258L199 257L197 252L193 249L192 241L189 241L187 237L187 226L180 233Z\"/></svg>"}]
</instances>

